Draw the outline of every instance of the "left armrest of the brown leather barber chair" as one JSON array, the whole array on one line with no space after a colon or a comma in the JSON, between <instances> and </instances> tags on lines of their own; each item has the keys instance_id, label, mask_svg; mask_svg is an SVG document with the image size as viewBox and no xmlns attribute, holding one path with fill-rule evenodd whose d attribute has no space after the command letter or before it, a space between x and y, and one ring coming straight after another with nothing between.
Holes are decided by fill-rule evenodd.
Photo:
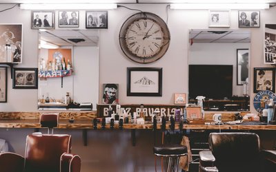
<instances>
[{"instance_id":1,"label":"left armrest of the brown leather barber chair","mask_svg":"<svg viewBox=\"0 0 276 172\"><path fill-rule=\"evenodd\" d=\"M24 158L11 152L0 153L1 171L19 172L24 169Z\"/></svg>"}]
</instances>

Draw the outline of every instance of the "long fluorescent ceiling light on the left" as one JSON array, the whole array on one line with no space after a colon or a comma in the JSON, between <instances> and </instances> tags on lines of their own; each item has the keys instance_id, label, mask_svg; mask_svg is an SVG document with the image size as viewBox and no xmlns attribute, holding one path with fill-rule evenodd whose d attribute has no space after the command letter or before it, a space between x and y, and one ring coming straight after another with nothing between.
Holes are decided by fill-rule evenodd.
<instances>
[{"instance_id":1,"label":"long fluorescent ceiling light on the left","mask_svg":"<svg viewBox=\"0 0 276 172\"><path fill-rule=\"evenodd\" d=\"M21 3L23 10L107 10L117 8L116 3Z\"/></svg>"}]
</instances>

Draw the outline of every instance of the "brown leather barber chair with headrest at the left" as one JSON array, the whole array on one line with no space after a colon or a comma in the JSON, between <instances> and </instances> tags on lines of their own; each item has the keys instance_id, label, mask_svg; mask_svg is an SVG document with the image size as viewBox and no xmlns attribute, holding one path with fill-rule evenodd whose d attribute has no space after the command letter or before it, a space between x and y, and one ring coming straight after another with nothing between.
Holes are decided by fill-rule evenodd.
<instances>
[{"instance_id":1,"label":"brown leather barber chair with headrest at the left","mask_svg":"<svg viewBox=\"0 0 276 172\"><path fill-rule=\"evenodd\" d=\"M53 127L58 123L56 117L52 114L41 115L41 126ZM24 157L16 153L0 153L0 171L79 172L81 158L70 152L70 135L32 133L26 138Z\"/></svg>"}]
</instances>

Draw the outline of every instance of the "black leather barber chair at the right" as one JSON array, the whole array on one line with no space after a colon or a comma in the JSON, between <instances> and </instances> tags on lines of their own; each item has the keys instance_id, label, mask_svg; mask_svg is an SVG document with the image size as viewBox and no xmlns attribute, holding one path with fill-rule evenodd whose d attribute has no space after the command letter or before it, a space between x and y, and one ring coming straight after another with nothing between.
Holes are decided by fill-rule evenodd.
<instances>
[{"instance_id":1,"label":"black leather barber chair at the right","mask_svg":"<svg viewBox=\"0 0 276 172\"><path fill-rule=\"evenodd\" d=\"M199 152L199 172L272 172L276 151L260 149L255 133L210 133L210 151Z\"/></svg>"}]
</instances>

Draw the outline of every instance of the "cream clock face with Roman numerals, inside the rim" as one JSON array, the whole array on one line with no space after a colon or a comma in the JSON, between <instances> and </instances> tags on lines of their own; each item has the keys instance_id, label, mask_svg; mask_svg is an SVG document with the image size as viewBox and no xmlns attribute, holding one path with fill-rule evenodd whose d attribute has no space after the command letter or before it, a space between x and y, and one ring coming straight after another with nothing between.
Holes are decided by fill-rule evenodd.
<instances>
[{"instance_id":1,"label":"cream clock face with Roman numerals, inside the rim","mask_svg":"<svg viewBox=\"0 0 276 172\"><path fill-rule=\"evenodd\" d=\"M126 32L126 45L132 54L141 58L154 56L163 46L164 34L161 27L151 19L133 22Z\"/></svg>"}]
</instances>

